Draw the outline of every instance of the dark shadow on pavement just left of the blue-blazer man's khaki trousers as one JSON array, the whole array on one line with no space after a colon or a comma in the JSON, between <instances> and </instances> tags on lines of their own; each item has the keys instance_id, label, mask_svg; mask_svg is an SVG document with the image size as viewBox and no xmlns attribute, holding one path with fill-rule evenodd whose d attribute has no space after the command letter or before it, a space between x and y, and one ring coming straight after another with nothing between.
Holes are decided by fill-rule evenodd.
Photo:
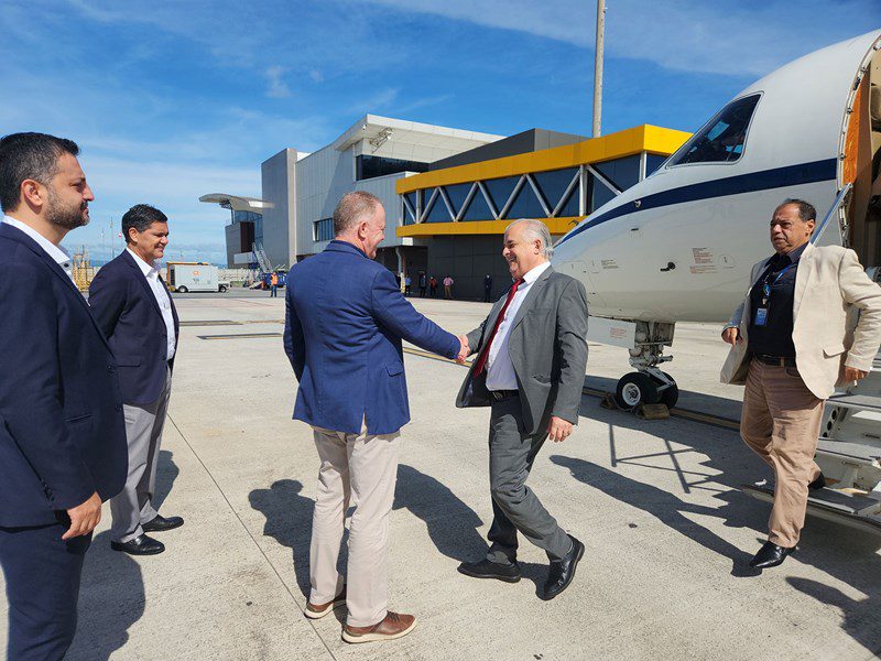
<instances>
[{"instance_id":1,"label":"dark shadow on pavement just left of the blue-blazer man's khaki trousers","mask_svg":"<svg viewBox=\"0 0 881 661\"><path fill-rule=\"evenodd\" d=\"M271 537L293 554L296 584L305 597L309 594L309 540L312 538L312 511L315 501L303 496L303 483L280 479L269 489L254 489L248 495L251 507L267 518L263 534ZM346 538L342 540L346 549ZM345 566L345 553L340 562Z\"/></svg>"}]
</instances>

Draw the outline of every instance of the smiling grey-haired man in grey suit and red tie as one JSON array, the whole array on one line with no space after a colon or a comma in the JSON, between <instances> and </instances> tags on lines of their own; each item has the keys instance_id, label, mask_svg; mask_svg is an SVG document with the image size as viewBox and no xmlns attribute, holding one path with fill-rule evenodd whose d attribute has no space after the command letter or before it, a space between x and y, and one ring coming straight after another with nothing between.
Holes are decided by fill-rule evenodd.
<instances>
[{"instance_id":1,"label":"smiling grey-haired man in grey suit and red tie","mask_svg":"<svg viewBox=\"0 0 881 661\"><path fill-rule=\"evenodd\" d=\"M456 400L458 408L491 407L489 473L491 545L459 572L476 578L520 581L520 531L551 561L542 598L553 599L572 583L585 546L567 534L526 486L546 438L565 441L578 423L587 367L587 295L577 280L547 261L551 234L521 219L504 232L502 256L514 279L479 327L463 337L477 358Z\"/></svg>"}]
</instances>

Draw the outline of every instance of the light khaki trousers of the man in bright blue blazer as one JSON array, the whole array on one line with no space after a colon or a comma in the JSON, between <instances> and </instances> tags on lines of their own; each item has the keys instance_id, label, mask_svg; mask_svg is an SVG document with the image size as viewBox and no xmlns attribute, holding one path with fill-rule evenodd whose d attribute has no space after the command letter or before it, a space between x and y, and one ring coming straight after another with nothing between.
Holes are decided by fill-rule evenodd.
<instances>
[{"instance_id":1,"label":"light khaki trousers of the man in bright blue blazer","mask_svg":"<svg viewBox=\"0 0 881 661\"><path fill-rule=\"evenodd\" d=\"M389 517L398 480L400 433L372 436L313 427L322 466L312 519L309 602L327 604L342 589L337 571L346 510L349 525L346 606L350 627L370 627L388 613Z\"/></svg>"}]
</instances>

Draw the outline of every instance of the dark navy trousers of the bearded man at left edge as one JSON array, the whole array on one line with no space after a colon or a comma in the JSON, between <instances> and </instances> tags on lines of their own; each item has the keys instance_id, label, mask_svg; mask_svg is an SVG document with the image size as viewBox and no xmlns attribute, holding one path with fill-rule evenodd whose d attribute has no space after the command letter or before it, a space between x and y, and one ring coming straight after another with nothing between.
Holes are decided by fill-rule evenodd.
<instances>
[{"instance_id":1,"label":"dark navy trousers of the bearded man at left edge","mask_svg":"<svg viewBox=\"0 0 881 661\"><path fill-rule=\"evenodd\" d=\"M62 541L66 524L0 528L12 661L57 661L76 632L83 560L91 534Z\"/></svg>"}]
</instances>

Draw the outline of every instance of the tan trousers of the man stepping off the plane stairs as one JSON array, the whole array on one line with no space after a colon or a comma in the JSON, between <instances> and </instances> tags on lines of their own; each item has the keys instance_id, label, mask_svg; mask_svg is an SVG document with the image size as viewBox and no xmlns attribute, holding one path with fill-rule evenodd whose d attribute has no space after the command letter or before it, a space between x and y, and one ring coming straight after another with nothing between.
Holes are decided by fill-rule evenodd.
<instances>
[{"instance_id":1,"label":"tan trousers of the man stepping off the plane stairs","mask_svg":"<svg viewBox=\"0 0 881 661\"><path fill-rule=\"evenodd\" d=\"M774 470L768 540L777 546L795 546L805 524L807 485L820 474L814 452L824 403L796 368L750 362L740 435Z\"/></svg>"}]
</instances>

